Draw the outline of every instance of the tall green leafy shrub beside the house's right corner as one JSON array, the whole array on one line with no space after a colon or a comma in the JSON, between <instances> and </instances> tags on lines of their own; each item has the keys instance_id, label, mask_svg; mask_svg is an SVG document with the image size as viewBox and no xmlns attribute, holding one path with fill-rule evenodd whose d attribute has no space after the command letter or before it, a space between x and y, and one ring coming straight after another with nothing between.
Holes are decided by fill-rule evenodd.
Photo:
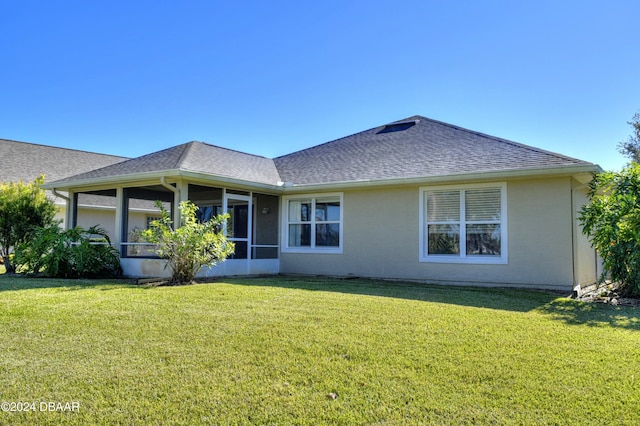
<instances>
[{"instance_id":1,"label":"tall green leafy shrub beside the house's right corner","mask_svg":"<svg viewBox=\"0 0 640 426\"><path fill-rule=\"evenodd\" d=\"M604 273L640 295L640 164L596 174L580 212L583 232L604 261Z\"/></svg>"}]
</instances>

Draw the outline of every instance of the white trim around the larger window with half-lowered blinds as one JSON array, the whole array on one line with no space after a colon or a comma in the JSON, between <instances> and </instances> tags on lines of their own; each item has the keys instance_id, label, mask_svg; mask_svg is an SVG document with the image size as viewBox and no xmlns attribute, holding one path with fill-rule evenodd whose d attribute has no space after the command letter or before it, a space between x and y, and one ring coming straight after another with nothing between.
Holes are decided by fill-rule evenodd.
<instances>
[{"instance_id":1,"label":"white trim around the larger window with half-lowered blinds","mask_svg":"<svg viewBox=\"0 0 640 426\"><path fill-rule=\"evenodd\" d=\"M426 194L432 191L466 191L481 188L499 188L500 189L500 256L490 255L467 255L465 251L461 250L458 255L446 255L446 254L428 254L428 238L426 236L427 231L427 209L425 206ZM464 206L460 207L460 240L466 236L466 229L464 227L466 221L464 220ZM472 264L507 264L509 263L509 247L508 247L508 224L507 224L507 184L506 182L489 182L489 183L476 183L467 185L439 185L439 186L423 186L420 187L420 246L419 246L419 261L429 263L472 263Z\"/></svg>"}]
</instances>

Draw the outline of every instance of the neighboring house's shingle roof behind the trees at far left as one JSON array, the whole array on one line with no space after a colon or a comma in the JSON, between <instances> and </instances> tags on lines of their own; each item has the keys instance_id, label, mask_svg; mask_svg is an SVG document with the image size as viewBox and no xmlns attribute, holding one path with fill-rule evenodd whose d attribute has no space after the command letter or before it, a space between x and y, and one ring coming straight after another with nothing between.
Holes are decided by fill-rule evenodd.
<instances>
[{"instance_id":1,"label":"neighboring house's shingle roof behind the trees at far left","mask_svg":"<svg viewBox=\"0 0 640 426\"><path fill-rule=\"evenodd\" d=\"M46 182L119 163L126 157L0 139L0 182Z\"/></svg>"}]
</instances>

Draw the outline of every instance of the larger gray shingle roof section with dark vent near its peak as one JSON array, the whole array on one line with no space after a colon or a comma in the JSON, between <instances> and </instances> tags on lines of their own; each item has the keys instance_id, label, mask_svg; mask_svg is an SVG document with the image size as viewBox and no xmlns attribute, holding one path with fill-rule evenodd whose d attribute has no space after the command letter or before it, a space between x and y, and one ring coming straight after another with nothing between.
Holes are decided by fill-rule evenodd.
<instances>
[{"instance_id":1,"label":"larger gray shingle roof section with dark vent near its peak","mask_svg":"<svg viewBox=\"0 0 640 426\"><path fill-rule=\"evenodd\" d=\"M422 116L394 123L403 124L369 129L274 162L284 182L298 185L591 165Z\"/></svg>"}]
</instances>

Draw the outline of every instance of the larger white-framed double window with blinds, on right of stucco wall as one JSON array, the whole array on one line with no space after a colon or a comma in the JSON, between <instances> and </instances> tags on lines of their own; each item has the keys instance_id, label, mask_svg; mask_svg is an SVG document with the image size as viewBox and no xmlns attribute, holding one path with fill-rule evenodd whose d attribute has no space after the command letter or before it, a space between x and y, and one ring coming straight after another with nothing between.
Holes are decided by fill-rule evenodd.
<instances>
[{"instance_id":1,"label":"larger white-framed double window with blinds, on right of stucco wall","mask_svg":"<svg viewBox=\"0 0 640 426\"><path fill-rule=\"evenodd\" d=\"M506 183L420 188L420 261L508 261Z\"/></svg>"}]
</instances>

